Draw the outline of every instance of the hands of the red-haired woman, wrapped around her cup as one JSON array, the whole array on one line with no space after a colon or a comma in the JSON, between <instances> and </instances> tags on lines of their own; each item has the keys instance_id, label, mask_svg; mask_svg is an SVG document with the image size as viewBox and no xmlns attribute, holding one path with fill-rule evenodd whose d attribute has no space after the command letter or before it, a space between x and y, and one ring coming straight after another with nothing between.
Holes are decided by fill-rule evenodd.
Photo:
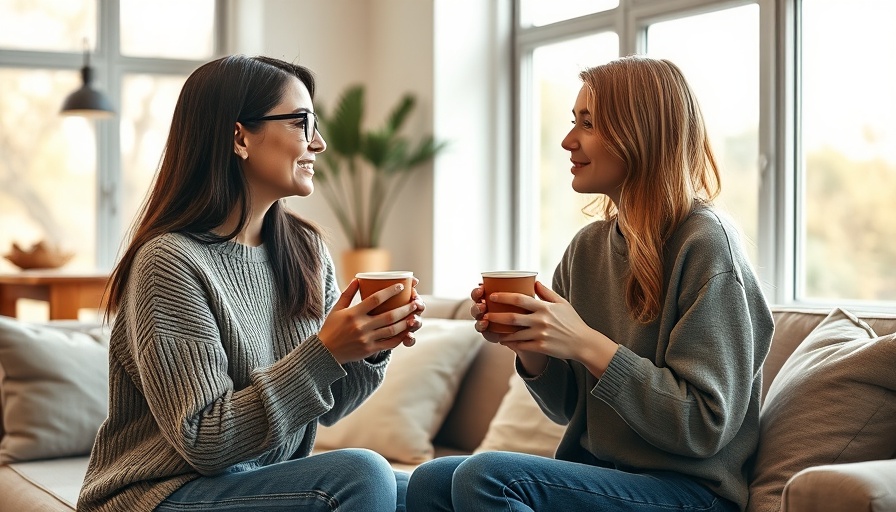
<instances>
[{"instance_id":1,"label":"hands of the red-haired woman, wrapped around her cup","mask_svg":"<svg viewBox=\"0 0 896 512\"><path fill-rule=\"evenodd\" d=\"M493 293L492 301L531 313L486 312L477 321L477 330L480 322L487 326L489 320L523 327L512 334L498 335L498 342L517 353L530 375L538 375L547 364L534 354L579 361L596 377L603 375L618 345L589 327L569 302L540 282L535 283L535 294L538 299L518 293Z\"/></svg>"}]
</instances>

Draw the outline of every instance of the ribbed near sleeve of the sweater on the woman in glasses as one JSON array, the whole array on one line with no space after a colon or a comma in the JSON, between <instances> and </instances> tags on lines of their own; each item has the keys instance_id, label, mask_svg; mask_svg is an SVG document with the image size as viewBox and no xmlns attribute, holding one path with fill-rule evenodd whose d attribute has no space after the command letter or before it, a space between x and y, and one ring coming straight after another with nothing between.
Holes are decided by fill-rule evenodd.
<instances>
[{"instance_id":1,"label":"ribbed near sleeve of the sweater on the woman in glasses","mask_svg":"<svg viewBox=\"0 0 896 512\"><path fill-rule=\"evenodd\" d=\"M294 440L334 403L345 371L316 336L235 389L201 272L170 244L149 243L129 282L134 364L166 441L214 474Z\"/></svg>"}]
</instances>

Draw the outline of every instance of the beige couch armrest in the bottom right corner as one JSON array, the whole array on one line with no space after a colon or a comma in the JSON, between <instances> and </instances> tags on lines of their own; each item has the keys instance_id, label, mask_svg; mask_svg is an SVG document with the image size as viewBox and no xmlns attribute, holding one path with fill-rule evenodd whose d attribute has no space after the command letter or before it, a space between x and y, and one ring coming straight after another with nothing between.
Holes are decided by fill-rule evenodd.
<instances>
[{"instance_id":1,"label":"beige couch armrest in the bottom right corner","mask_svg":"<svg viewBox=\"0 0 896 512\"><path fill-rule=\"evenodd\" d=\"M896 459L807 468L784 487L782 512L896 510Z\"/></svg>"}]
</instances>

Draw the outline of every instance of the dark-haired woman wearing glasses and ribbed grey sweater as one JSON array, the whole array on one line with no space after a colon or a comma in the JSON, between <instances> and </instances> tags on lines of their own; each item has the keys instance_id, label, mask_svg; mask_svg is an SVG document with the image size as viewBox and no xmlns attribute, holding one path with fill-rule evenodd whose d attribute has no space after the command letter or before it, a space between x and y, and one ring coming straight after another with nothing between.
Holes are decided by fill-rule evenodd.
<instances>
[{"instance_id":1,"label":"dark-haired woman wearing glasses and ribbed grey sweater","mask_svg":"<svg viewBox=\"0 0 896 512\"><path fill-rule=\"evenodd\" d=\"M326 149L309 70L224 57L184 84L152 191L112 275L109 416L78 510L403 508L367 450L311 456L414 343L424 309L352 306L318 230L283 199Z\"/></svg>"}]
</instances>

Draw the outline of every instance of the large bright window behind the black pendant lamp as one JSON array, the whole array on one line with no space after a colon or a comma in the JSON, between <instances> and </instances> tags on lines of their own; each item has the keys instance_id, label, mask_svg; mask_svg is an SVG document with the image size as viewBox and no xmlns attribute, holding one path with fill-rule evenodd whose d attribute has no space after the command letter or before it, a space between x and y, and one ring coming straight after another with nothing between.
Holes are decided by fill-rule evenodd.
<instances>
[{"instance_id":1,"label":"large bright window behind the black pendant lamp","mask_svg":"<svg viewBox=\"0 0 896 512\"><path fill-rule=\"evenodd\" d=\"M112 267L180 88L221 45L220 7L0 0L0 252L45 240L75 253L66 268ZM80 86L85 41L93 83L115 106L109 120L59 115Z\"/></svg>"}]
</instances>

